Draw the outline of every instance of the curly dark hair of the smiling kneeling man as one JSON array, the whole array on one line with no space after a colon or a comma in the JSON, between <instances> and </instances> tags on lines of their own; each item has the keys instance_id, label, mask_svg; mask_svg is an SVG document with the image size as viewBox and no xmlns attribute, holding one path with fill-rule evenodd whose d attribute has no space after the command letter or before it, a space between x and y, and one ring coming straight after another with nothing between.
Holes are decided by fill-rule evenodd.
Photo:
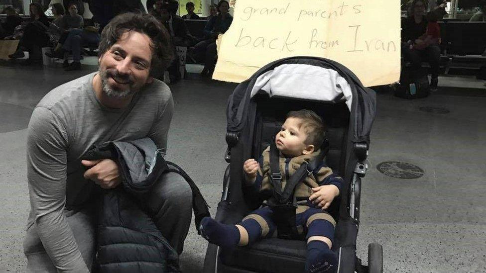
<instances>
[{"instance_id":1,"label":"curly dark hair of the smiling kneeling man","mask_svg":"<svg viewBox=\"0 0 486 273\"><path fill-rule=\"evenodd\" d=\"M122 34L129 31L146 34L152 43L152 62L150 72L155 67L165 69L174 58L170 35L152 15L141 13L123 13L113 18L101 33L98 47L99 57L102 57L119 39Z\"/></svg>"}]
</instances>

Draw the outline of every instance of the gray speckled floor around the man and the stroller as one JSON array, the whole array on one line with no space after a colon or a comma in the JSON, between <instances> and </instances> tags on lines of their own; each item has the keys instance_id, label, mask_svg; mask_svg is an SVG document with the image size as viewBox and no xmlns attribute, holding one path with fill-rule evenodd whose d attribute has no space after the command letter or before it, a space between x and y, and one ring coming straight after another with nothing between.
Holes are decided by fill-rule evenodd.
<instances>
[{"instance_id":1,"label":"gray speckled floor around the man and the stroller","mask_svg":"<svg viewBox=\"0 0 486 273\"><path fill-rule=\"evenodd\" d=\"M25 265L25 127L32 107L51 88L95 70L0 66L0 272L22 272ZM236 85L189 76L171 86L176 110L168 157L199 184L214 213L226 168L226 100ZM441 80L448 81L456 86L425 99L378 94L358 256L366 262L367 244L382 244L385 272L486 272L486 91L481 82L462 92L458 81ZM427 113L420 106L451 112ZM384 161L415 164L425 175L384 176L376 170ZM191 226L184 272L200 272L206 246Z\"/></svg>"}]
</instances>

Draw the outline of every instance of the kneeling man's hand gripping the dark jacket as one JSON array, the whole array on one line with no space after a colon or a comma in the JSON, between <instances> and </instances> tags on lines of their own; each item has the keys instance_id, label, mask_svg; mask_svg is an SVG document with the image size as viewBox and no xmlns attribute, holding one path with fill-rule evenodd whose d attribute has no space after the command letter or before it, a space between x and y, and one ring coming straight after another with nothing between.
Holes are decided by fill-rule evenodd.
<instances>
[{"instance_id":1,"label":"kneeling man's hand gripping the dark jacket","mask_svg":"<svg viewBox=\"0 0 486 273\"><path fill-rule=\"evenodd\" d=\"M122 182L118 165L111 159L82 160L81 164L91 167L84 173L84 178L94 181L102 188L115 188Z\"/></svg>"}]
</instances>

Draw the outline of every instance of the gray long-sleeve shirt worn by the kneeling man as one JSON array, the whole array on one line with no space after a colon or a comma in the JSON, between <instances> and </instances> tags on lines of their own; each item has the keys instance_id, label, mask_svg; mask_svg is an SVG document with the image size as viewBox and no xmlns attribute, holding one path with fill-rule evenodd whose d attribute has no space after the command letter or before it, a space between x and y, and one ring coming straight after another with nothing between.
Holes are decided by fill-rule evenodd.
<instances>
[{"instance_id":1,"label":"gray long-sleeve shirt worn by the kneeling man","mask_svg":"<svg viewBox=\"0 0 486 273\"><path fill-rule=\"evenodd\" d=\"M50 91L28 126L28 225L37 225L47 254L61 272L88 272L63 213L65 207L83 207L97 186L83 178L81 156L93 144L144 137L165 154L174 109L169 88L158 80L138 91L125 109L107 108L93 90L95 74ZM129 113L123 116L124 111ZM110 137L112 128L117 130Z\"/></svg>"}]
</instances>

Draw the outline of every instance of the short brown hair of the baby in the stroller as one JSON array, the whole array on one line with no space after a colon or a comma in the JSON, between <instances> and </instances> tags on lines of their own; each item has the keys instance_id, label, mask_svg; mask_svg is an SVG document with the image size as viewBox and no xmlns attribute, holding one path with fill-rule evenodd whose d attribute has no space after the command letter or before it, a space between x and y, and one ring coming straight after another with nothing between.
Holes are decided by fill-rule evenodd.
<instances>
[{"instance_id":1,"label":"short brown hair of the baby in the stroller","mask_svg":"<svg viewBox=\"0 0 486 273\"><path fill-rule=\"evenodd\" d=\"M326 137L326 128L324 128L324 123L322 118L311 110L298 110L290 111L287 114L287 118L295 117L302 119L302 123L299 125L303 128L307 137L304 141L307 145L314 145L315 150L321 148L324 138Z\"/></svg>"}]
</instances>

